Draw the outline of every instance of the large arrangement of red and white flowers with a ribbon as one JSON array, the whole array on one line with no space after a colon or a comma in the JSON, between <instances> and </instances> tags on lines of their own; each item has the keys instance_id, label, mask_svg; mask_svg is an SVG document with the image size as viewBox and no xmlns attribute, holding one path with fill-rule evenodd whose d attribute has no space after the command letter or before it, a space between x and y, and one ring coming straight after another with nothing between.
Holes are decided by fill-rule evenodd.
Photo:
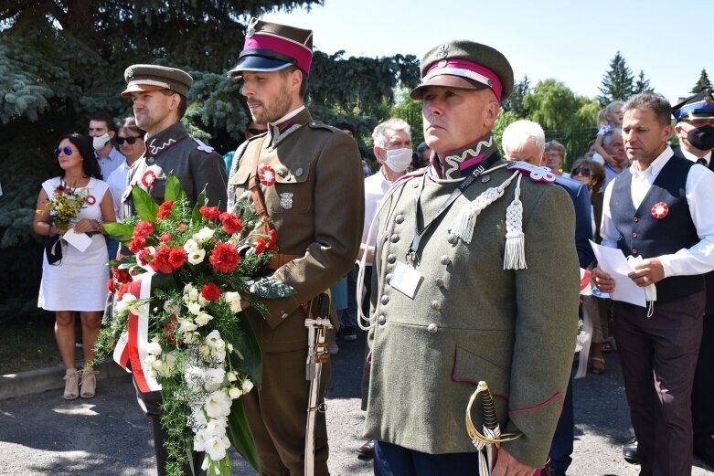
<instances>
[{"instance_id":1,"label":"large arrangement of red and white flowers with a ribbon","mask_svg":"<svg viewBox=\"0 0 714 476\"><path fill-rule=\"evenodd\" d=\"M138 217L105 226L134 254L112 261L115 304L97 359L115 345L140 390L162 390L168 474L181 474L191 450L205 451L209 475L229 474L231 444L259 471L240 396L261 386L261 353L240 301L264 311L260 299L293 294L261 278L276 251L270 220L246 200L221 213L201 194L191 207L174 175L162 205L139 186L133 202Z\"/></svg>"}]
</instances>

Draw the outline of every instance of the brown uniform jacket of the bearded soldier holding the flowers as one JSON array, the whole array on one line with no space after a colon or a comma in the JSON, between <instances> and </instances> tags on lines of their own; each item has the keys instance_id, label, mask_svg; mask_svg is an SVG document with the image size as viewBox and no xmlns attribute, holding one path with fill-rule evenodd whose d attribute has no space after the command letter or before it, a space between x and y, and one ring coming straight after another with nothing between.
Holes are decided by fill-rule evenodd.
<instances>
[{"instance_id":1,"label":"brown uniform jacket of the bearded soldier holding the flowers","mask_svg":"<svg viewBox=\"0 0 714 476\"><path fill-rule=\"evenodd\" d=\"M314 121L307 110L288 124L271 126L236 151L229 177L229 207L250 200L249 179L258 164L275 171L274 185L261 185L281 253L293 259L273 276L296 291L265 300L268 312L246 310L263 352L307 347L301 304L346 275L357 257L364 216L364 175L357 143L334 127Z\"/></svg>"}]
</instances>

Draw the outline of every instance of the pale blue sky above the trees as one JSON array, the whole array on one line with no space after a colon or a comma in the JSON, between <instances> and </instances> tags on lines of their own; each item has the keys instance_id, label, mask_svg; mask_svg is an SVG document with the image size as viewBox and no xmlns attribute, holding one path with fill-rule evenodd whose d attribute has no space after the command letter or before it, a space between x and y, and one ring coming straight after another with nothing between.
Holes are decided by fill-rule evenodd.
<instances>
[{"instance_id":1,"label":"pale blue sky above the trees","mask_svg":"<svg viewBox=\"0 0 714 476\"><path fill-rule=\"evenodd\" d=\"M517 79L555 78L595 97L619 50L634 76L640 69L657 92L677 102L688 96L702 68L714 80L710 0L588 2L554 0L325 0L264 19L314 30L325 53L417 58L449 39L466 38L499 49ZM709 25L709 26L708 26Z\"/></svg>"}]
</instances>

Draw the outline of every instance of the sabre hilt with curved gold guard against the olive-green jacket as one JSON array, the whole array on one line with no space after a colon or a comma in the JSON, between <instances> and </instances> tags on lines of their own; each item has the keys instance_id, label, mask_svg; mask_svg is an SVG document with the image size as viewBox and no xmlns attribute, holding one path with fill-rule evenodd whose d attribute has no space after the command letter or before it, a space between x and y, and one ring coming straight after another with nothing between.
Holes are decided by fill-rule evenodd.
<instances>
[{"instance_id":1,"label":"sabre hilt with curved gold guard against the olive-green jacket","mask_svg":"<svg viewBox=\"0 0 714 476\"><path fill-rule=\"evenodd\" d=\"M474 426L471 419L471 407L474 405L476 397L479 398L484 417L484 433L481 433ZM501 435L501 428L496 419L496 405L494 397L488 385L482 380L476 386L474 395L469 399L466 407L466 432L468 432L476 450L478 451L478 473L481 476L490 476L494 466L496 466L496 450L506 441L512 441L520 437L520 433L504 433Z\"/></svg>"}]
</instances>

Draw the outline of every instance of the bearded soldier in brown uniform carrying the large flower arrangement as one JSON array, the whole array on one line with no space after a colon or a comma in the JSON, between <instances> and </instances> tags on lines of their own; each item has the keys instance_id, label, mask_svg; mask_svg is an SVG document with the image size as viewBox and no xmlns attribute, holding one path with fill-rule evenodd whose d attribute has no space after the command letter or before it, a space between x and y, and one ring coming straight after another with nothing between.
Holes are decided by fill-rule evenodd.
<instances>
[{"instance_id":1,"label":"bearded soldier in brown uniform carrying the large flower arrangement","mask_svg":"<svg viewBox=\"0 0 714 476\"><path fill-rule=\"evenodd\" d=\"M309 382L303 304L349 270L357 257L364 214L364 178L357 144L314 121L304 107L312 60L312 31L251 20L238 65L253 121L268 132L241 144L229 177L229 207L258 194L274 221L280 255L273 276L296 291L266 300L268 312L245 310L261 345L261 390L244 398L266 475L303 474ZM258 181L272 168L275 182ZM265 178L265 177L263 177ZM266 185L267 184L267 185ZM253 200L256 203L256 200ZM322 391L330 366L323 367ZM314 473L327 470L325 414L317 418Z\"/></svg>"}]
</instances>

